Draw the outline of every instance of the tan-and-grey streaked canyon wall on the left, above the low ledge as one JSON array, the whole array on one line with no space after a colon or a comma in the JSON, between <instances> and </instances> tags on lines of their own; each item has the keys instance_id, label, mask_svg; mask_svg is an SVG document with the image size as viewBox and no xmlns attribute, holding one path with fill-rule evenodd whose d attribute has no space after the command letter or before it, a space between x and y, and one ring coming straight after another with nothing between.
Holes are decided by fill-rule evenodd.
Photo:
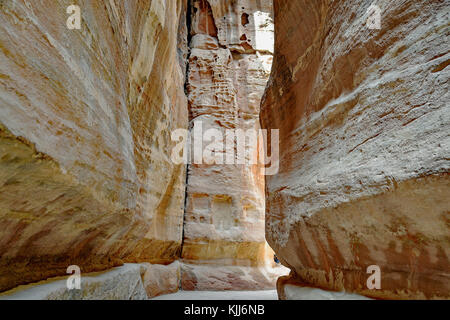
<instances>
[{"instance_id":1,"label":"tan-and-grey streaked canyon wall on the left, above the low ledge","mask_svg":"<svg viewBox=\"0 0 450 320\"><path fill-rule=\"evenodd\" d=\"M77 3L0 3L0 291L180 255L187 2Z\"/></svg>"}]
</instances>

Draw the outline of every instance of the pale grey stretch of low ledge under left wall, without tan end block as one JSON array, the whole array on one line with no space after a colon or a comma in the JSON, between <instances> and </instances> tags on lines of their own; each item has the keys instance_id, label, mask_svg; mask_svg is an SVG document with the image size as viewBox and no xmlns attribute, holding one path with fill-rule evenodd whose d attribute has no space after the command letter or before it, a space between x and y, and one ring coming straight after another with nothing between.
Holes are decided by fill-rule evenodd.
<instances>
[{"instance_id":1,"label":"pale grey stretch of low ledge under left wall, without tan end block","mask_svg":"<svg viewBox=\"0 0 450 320\"><path fill-rule=\"evenodd\" d=\"M146 267L125 264L107 272L81 274L80 289L67 289L67 279L19 286L0 300L146 300L141 274Z\"/></svg>"}]
</instances>

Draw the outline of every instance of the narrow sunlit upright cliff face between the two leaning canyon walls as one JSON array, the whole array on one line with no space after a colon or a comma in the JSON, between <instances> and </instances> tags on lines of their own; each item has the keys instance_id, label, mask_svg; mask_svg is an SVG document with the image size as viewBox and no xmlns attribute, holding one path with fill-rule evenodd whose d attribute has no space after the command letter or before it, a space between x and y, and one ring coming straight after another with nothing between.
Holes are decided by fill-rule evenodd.
<instances>
[{"instance_id":1,"label":"narrow sunlit upright cliff face between the two leaning canyon walls","mask_svg":"<svg viewBox=\"0 0 450 320\"><path fill-rule=\"evenodd\" d=\"M260 128L260 99L272 62L271 1L192 1L189 46L191 133L196 134L195 127L203 133L217 130L221 136L205 138L199 148L206 150L211 142L220 145L215 155L221 160L207 162L200 156L198 161L192 152L182 253L184 262L192 265L182 267L182 287L254 288L252 277L244 280L239 268L225 269L271 264L272 251L264 238L264 175L257 164L220 161L226 162L223 150L229 148L226 130ZM193 144L198 147L196 140ZM257 144L248 148L248 154L259 151ZM215 269L219 265L220 271ZM222 281L224 285L215 285Z\"/></svg>"}]
</instances>

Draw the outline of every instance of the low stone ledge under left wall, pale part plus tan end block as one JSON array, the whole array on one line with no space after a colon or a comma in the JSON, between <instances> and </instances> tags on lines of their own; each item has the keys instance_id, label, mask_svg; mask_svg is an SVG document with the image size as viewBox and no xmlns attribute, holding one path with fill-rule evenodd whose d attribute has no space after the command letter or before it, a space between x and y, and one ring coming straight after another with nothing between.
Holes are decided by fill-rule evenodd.
<instances>
[{"instance_id":1,"label":"low stone ledge under left wall, pale part plus tan end block","mask_svg":"<svg viewBox=\"0 0 450 320\"><path fill-rule=\"evenodd\" d=\"M73 276L49 278L1 292L1 300L148 300L175 293L180 263L169 265L125 263L102 272L81 273L79 288Z\"/></svg>"}]
</instances>

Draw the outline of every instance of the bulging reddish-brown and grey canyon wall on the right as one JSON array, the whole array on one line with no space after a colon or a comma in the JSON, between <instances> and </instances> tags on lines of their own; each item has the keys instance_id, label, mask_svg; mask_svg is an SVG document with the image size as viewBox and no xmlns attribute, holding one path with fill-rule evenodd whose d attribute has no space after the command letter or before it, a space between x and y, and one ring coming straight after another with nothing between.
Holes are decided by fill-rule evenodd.
<instances>
[{"instance_id":1,"label":"bulging reddish-brown and grey canyon wall on the right","mask_svg":"<svg viewBox=\"0 0 450 320\"><path fill-rule=\"evenodd\" d=\"M450 298L449 2L371 3L274 2L266 237L299 285Z\"/></svg>"}]
</instances>

